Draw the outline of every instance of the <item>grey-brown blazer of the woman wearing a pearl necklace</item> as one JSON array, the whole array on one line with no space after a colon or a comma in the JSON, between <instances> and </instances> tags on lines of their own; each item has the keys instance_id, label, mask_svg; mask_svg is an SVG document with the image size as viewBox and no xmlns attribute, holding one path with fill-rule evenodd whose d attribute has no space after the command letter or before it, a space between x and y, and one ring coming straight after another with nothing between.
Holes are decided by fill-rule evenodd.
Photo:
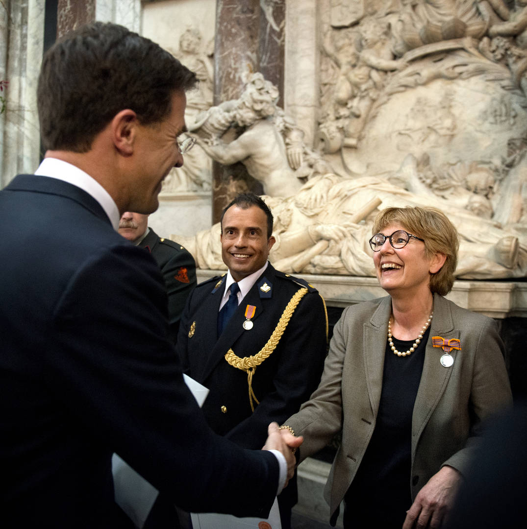
<instances>
[{"instance_id":1,"label":"grey-brown blazer of the woman wearing a pearl necklace","mask_svg":"<svg viewBox=\"0 0 527 529\"><path fill-rule=\"evenodd\" d=\"M332 521L376 424L390 312L390 296L344 310L318 389L285 422L304 436L301 460L342 430L324 491ZM432 336L438 335L461 342L461 350L451 353L454 363L449 368L440 363L443 349L432 346ZM412 499L443 465L463 472L481 421L511 402L496 322L434 294L434 317L412 418Z\"/></svg>"}]
</instances>

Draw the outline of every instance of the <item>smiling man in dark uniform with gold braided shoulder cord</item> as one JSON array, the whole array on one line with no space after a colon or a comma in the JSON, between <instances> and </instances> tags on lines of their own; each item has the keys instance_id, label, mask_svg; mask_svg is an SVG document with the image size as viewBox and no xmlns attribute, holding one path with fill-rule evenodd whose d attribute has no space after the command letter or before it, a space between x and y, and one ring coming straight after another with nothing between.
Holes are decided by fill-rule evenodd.
<instances>
[{"instance_id":1,"label":"smiling man in dark uniform with gold braided shoulder cord","mask_svg":"<svg viewBox=\"0 0 527 529\"><path fill-rule=\"evenodd\" d=\"M238 195L224 209L229 271L192 291L176 344L183 369L209 388L202 407L208 423L245 448L262 445L269 422L298 411L316 389L326 355L324 300L267 262L272 230L271 211L254 194ZM290 484L279 496L284 528L296 501Z\"/></svg>"}]
</instances>

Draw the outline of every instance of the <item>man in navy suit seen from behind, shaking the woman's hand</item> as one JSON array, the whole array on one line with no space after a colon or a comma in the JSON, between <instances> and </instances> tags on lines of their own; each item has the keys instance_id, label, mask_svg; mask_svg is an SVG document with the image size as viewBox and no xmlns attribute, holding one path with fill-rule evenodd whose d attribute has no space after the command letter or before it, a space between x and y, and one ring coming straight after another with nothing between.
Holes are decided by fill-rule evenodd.
<instances>
[{"instance_id":1,"label":"man in navy suit seen from behind, shaking the woman's hand","mask_svg":"<svg viewBox=\"0 0 527 529\"><path fill-rule=\"evenodd\" d=\"M155 261L118 233L183 165L195 75L154 42L95 22L51 47L46 157L0 192L2 526L119 527L118 453L187 510L266 515L294 457L269 426L248 451L213 433L167 334ZM121 513L122 514L122 513Z\"/></svg>"}]
</instances>

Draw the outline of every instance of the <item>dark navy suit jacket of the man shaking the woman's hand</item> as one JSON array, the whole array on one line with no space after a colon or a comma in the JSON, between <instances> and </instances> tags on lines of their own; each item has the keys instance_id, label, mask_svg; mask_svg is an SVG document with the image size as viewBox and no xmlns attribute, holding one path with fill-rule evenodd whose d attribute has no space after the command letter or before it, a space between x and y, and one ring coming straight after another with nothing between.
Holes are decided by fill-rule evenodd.
<instances>
[{"instance_id":1,"label":"dark navy suit jacket of the man shaking the woman's hand","mask_svg":"<svg viewBox=\"0 0 527 529\"><path fill-rule=\"evenodd\" d=\"M266 515L278 462L214 434L167 336L155 261L83 190L0 192L3 527L114 527L117 452L186 510Z\"/></svg>"}]
</instances>

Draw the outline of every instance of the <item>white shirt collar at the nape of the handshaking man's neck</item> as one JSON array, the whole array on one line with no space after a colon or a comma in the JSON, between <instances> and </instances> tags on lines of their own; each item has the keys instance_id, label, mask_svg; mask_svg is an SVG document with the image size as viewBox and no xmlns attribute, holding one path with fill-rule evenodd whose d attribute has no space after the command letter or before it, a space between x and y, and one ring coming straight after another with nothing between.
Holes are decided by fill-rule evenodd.
<instances>
[{"instance_id":1,"label":"white shirt collar at the nape of the handshaking man's neck","mask_svg":"<svg viewBox=\"0 0 527 529\"><path fill-rule=\"evenodd\" d=\"M44 158L39 168L35 171L35 175L56 178L83 189L99 202L106 215L108 215L113 229L115 231L119 229L121 215L119 215L119 209L117 209L113 198L97 180L82 169L57 158Z\"/></svg>"}]
</instances>

